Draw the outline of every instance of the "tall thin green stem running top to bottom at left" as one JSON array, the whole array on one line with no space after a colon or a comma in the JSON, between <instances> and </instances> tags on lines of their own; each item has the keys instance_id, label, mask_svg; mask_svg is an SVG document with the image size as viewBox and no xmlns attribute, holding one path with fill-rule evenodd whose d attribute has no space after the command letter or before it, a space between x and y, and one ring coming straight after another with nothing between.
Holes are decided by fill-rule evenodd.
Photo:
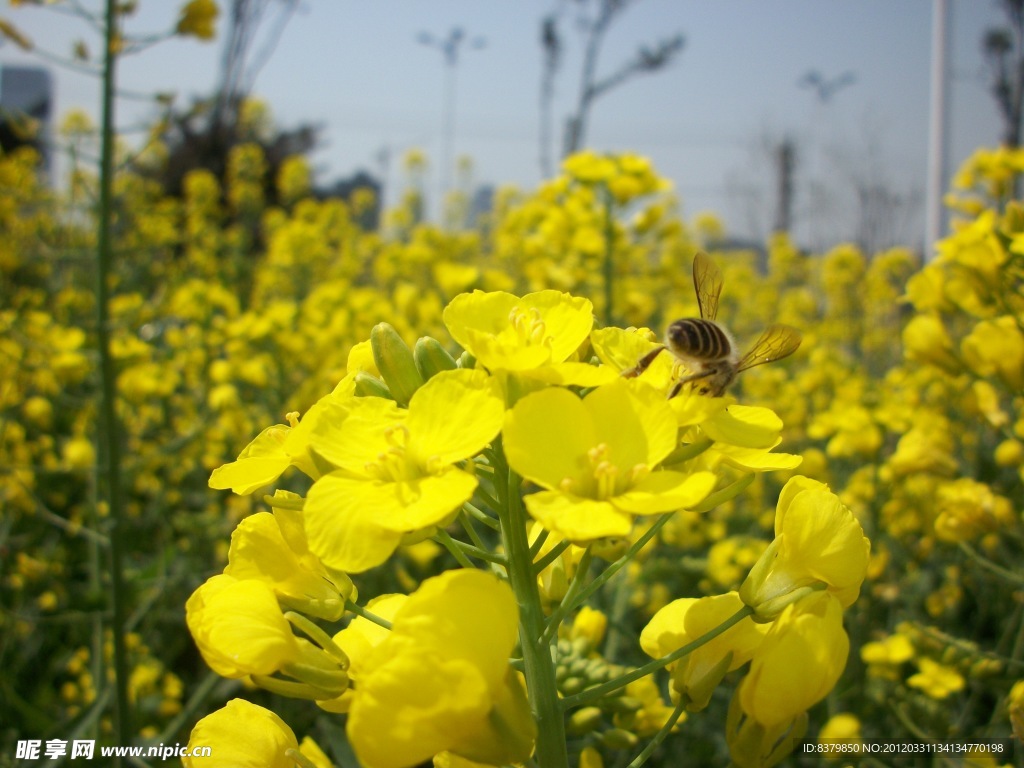
<instances>
[{"instance_id":1,"label":"tall thin green stem running top to bottom at left","mask_svg":"<svg viewBox=\"0 0 1024 768\"><path fill-rule=\"evenodd\" d=\"M103 90L101 145L99 155L99 212L96 231L96 334L102 383L101 419L103 453L106 458L106 498L111 516L111 602L114 626L114 676L117 738L132 743L131 708L128 698L128 647L125 618L128 596L124 580L125 510L121 486L121 429L117 416L117 370L111 352L110 283L113 260L114 218L114 82L117 63L117 2L106 0L103 40ZM120 764L120 759L118 764Z\"/></svg>"}]
</instances>

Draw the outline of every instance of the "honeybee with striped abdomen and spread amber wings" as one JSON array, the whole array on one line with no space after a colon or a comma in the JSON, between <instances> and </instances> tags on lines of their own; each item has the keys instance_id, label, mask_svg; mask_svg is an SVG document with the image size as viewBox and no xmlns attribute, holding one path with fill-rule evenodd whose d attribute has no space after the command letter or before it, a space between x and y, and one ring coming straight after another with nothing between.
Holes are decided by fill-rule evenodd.
<instances>
[{"instance_id":1,"label":"honeybee with striped abdomen and spread amber wings","mask_svg":"<svg viewBox=\"0 0 1024 768\"><path fill-rule=\"evenodd\" d=\"M647 352L624 376L639 376L658 354L668 350L693 372L673 385L669 391L670 398L679 394L684 384L691 382L700 394L718 397L741 371L782 359L800 346L800 331L775 323L768 326L751 350L740 357L732 336L715 322L718 297L722 293L722 272L705 253L693 257L693 290L696 291L700 316L672 323L666 331L665 344Z\"/></svg>"}]
</instances>

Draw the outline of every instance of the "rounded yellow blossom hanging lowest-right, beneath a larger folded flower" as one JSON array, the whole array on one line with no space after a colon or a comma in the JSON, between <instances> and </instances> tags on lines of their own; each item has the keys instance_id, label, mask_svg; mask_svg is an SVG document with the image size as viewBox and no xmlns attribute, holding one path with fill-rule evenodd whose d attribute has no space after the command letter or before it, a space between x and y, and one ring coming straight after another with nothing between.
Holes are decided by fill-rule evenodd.
<instances>
[{"instance_id":1,"label":"rounded yellow blossom hanging lowest-right, beneath a larger folded flower","mask_svg":"<svg viewBox=\"0 0 1024 768\"><path fill-rule=\"evenodd\" d=\"M819 592L788 605L754 652L740 707L769 728L791 721L833 689L849 651L839 600Z\"/></svg>"}]
</instances>

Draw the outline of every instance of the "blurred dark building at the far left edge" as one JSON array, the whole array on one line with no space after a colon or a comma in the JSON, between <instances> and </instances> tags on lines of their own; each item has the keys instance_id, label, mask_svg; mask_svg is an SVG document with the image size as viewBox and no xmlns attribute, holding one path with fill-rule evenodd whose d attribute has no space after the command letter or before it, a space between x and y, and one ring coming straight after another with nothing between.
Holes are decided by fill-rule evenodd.
<instances>
[{"instance_id":1,"label":"blurred dark building at the far left edge","mask_svg":"<svg viewBox=\"0 0 1024 768\"><path fill-rule=\"evenodd\" d=\"M0 147L32 146L50 176L50 122L53 80L41 67L0 66Z\"/></svg>"}]
</instances>

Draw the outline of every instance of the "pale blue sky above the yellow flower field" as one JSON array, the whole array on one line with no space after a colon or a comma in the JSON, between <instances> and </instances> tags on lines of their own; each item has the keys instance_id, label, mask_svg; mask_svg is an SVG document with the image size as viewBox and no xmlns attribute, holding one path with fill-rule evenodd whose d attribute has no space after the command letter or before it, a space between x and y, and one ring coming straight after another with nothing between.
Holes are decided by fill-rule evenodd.
<instances>
[{"instance_id":1,"label":"pale blue sky above the yellow flower field","mask_svg":"<svg viewBox=\"0 0 1024 768\"><path fill-rule=\"evenodd\" d=\"M92 5L98 3L92 2ZM130 29L173 25L177 0L142 0ZM567 8L565 60L556 85L556 132L574 100L581 39ZM999 121L980 54L983 31L998 24L994 0L951 0L949 160L994 144ZM458 72L456 152L473 158L481 183L532 187L540 179L538 43L555 0L302 0L255 93L284 126L324 126L314 163L324 181L359 168L377 172L382 147L441 153L443 74L438 51L416 37L444 37L453 26L485 38L465 51ZM37 43L66 51L81 27L45 10L8 9ZM592 113L589 144L635 151L671 178L686 215L713 210L737 236L771 221L766 140L791 135L800 153L797 230L806 240L851 233L849 178L878 180L924 196L928 145L931 0L638 0L613 25L599 72L640 43L681 32L686 46L671 69L604 96ZM94 47L95 49L95 47ZM7 44L0 63L29 60ZM172 40L124 61L120 83L135 90L202 94L214 82L219 47ZM798 80L852 71L856 83L820 103ZM96 90L81 76L56 74L57 109L94 111ZM185 101L186 98L182 98ZM139 122L138 104L120 108ZM390 181L396 183L397 164ZM823 185L811 195L812 183ZM817 202L815 202L817 201ZM911 209L913 206L911 206ZM923 205L903 226L920 242ZM851 230L851 231L846 231ZM913 242L912 244L916 244Z\"/></svg>"}]
</instances>

